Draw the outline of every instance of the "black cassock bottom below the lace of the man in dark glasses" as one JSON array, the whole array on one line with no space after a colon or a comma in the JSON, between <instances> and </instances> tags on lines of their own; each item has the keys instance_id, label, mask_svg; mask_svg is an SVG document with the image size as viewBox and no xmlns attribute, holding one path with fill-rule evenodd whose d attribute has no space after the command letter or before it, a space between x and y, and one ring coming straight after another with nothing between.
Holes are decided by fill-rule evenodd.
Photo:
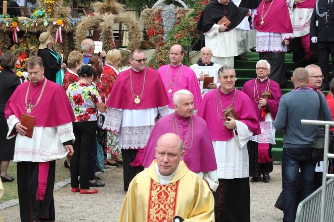
<instances>
[{"instance_id":1,"label":"black cassock bottom below the lace of the man in dark glasses","mask_svg":"<svg viewBox=\"0 0 334 222\"><path fill-rule=\"evenodd\" d=\"M124 191L128 191L132 179L144 170L142 166L133 167L130 165L136 159L137 153L138 149L122 149Z\"/></svg>"}]
</instances>

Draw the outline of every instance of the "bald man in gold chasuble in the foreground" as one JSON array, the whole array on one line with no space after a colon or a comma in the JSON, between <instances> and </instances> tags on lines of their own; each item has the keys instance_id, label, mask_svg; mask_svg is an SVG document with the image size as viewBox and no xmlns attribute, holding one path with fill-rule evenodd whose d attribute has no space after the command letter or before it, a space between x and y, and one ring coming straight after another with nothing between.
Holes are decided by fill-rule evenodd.
<instances>
[{"instance_id":1,"label":"bald man in gold chasuble in the foreground","mask_svg":"<svg viewBox=\"0 0 334 222\"><path fill-rule=\"evenodd\" d=\"M183 156L178 135L166 133L158 139L156 160L130 183L118 222L214 221L212 193L187 168Z\"/></svg>"}]
</instances>

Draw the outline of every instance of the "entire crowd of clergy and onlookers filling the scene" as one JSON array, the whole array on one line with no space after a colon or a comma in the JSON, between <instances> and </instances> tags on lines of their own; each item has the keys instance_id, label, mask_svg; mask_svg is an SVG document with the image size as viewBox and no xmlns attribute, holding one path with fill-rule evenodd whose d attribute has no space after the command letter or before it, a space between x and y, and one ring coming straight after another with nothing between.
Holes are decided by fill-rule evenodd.
<instances>
[{"instance_id":1,"label":"entire crowd of clergy and onlookers filling the scene","mask_svg":"<svg viewBox=\"0 0 334 222\"><path fill-rule=\"evenodd\" d=\"M66 157L71 192L98 193L96 187L106 185L95 176L102 147L103 164L124 169L127 195L118 221L250 222L249 182L270 181L275 132L284 130L283 221L293 222L298 172L302 199L317 187L312 141L318 127L301 125L300 119L318 119L319 98L324 120L334 116L332 97L327 103L322 93L328 87L334 93L334 81L328 81L333 42L321 24L329 22L322 20L326 2L319 8L307 0L256 4L210 2L196 27L205 33L205 47L190 67L182 64L185 51L175 44L169 64L158 70L146 66L143 50L134 49L130 67L120 71L120 51L94 55L92 39L84 39L81 52L70 52L64 63L52 46L52 35L43 32L38 56L26 62L29 81L20 84L13 72L15 56L3 53L1 181L14 180L7 168L10 160L17 162L21 220L55 221L57 159ZM301 15L308 15L303 21L311 23L311 32L304 26L296 34L300 23L295 18ZM227 20L220 22L224 16ZM244 60L241 48L249 48L240 36L251 28L257 30L254 44L260 60L255 78L239 90L234 57ZM319 53L322 62L296 69L291 78L295 89L282 95L287 82L284 55L294 37L301 40L305 61L311 63ZM311 42L318 42L318 50Z\"/></svg>"}]
</instances>

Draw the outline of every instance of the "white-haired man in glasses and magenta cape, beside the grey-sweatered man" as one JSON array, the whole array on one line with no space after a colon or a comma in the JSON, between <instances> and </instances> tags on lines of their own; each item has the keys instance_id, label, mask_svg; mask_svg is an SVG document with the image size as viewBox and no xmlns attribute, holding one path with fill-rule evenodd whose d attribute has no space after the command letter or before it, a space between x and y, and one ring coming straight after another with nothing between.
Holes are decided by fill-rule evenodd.
<instances>
[{"instance_id":1,"label":"white-haired man in glasses and magenta cape, beside the grey-sweatered man","mask_svg":"<svg viewBox=\"0 0 334 222\"><path fill-rule=\"evenodd\" d=\"M260 60L256 64L256 78L247 81L242 92L248 95L259 119L261 134L254 135L247 143L249 155L249 175L252 182L270 180L269 173L273 171L271 148L275 142L275 127L278 104L282 97L280 85L269 79L270 64Z\"/></svg>"}]
</instances>

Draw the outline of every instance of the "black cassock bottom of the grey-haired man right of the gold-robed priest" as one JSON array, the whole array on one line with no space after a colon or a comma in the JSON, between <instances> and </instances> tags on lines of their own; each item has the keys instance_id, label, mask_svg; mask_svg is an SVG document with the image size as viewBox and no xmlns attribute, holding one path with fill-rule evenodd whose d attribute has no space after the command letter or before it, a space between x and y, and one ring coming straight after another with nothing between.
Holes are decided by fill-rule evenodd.
<instances>
[{"instance_id":1,"label":"black cassock bottom of the grey-haired man right of the gold-robed priest","mask_svg":"<svg viewBox=\"0 0 334 222\"><path fill-rule=\"evenodd\" d=\"M214 198L215 222L250 222L249 179L218 179Z\"/></svg>"}]
</instances>

